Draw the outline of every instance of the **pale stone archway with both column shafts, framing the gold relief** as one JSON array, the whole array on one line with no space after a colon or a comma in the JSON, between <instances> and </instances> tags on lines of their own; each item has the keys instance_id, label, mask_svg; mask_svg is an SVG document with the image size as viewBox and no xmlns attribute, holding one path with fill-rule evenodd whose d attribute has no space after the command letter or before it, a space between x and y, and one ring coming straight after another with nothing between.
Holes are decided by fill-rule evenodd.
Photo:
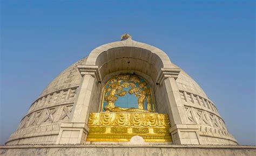
<instances>
[{"instance_id":1,"label":"pale stone archway with both column shafts, framing the gold relief","mask_svg":"<svg viewBox=\"0 0 256 156\"><path fill-rule=\"evenodd\" d=\"M138 75L147 75L147 78L152 80L155 110L160 114L168 114L171 125L186 122L179 115L179 113L184 114L181 112L184 111L183 107L178 107L176 101L173 101L174 93L178 92L176 79L180 69L174 67L169 56L156 47L133 41L130 38L112 42L93 49L86 62L83 65L78 65L78 69L82 81L75 101L75 108L71 114L71 123L87 125L91 112L98 112L102 105L102 99L99 97L102 98L105 80L108 80L106 77L114 76L125 70L126 73L133 74L134 72L139 73ZM174 92L171 90L172 86L176 89ZM174 96L179 98L179 95L175 94ZM88 129L85 128L85 136L86 131L88 132Z\"/></svg>"}]
</instances>

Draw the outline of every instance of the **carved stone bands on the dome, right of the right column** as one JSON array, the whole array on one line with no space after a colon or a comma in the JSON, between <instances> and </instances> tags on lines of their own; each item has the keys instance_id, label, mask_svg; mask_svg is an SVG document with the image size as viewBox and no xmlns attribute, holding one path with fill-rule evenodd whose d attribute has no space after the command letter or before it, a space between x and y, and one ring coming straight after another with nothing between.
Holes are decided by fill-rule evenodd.
<instances>
[{"instance_id":1,"label":"carved stone bands on the dome, right of the right column","mask_svg":"<svg viewBox=\"0 0 256 156\"><path fill-rule=\"evenodd\" d=\"M225 122L213 102L183 90L180 90L180 97L188 122L200 127L197 132L200 144L238 144L227 131Z\"/></svg>"}]
</instances>

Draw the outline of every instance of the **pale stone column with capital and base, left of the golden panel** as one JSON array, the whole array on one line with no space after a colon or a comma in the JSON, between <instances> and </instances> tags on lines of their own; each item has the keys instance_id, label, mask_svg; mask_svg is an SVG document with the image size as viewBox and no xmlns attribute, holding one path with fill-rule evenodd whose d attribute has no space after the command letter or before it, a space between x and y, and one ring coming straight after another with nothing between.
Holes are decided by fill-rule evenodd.
<instances>
[{"instance_id":1,"label":"pale stone column with capital and base, left of the golden panel","mask_svg":"<svg viewBox=\"0 0 256 156\"><path fill-rule=\"evenodd\" d=\"M82 76L74 108L68 123L60 125L57 144L84 144L89 127L90 112L97 112L100 97L101 77L98 66L79 65Z\"/></svg>"}]
</instances>

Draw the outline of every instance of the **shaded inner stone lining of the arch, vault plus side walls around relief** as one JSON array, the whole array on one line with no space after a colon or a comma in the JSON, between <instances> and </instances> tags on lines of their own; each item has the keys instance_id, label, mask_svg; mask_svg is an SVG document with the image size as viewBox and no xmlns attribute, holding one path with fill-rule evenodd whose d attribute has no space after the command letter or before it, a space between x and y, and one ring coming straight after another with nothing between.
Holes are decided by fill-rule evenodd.
<instances>
[{"instance_id":1,"label":"shaded inner stone lining of the arch, vault plus side walls around relief","mask_svg":"<svg viewBox=\"0 0 256 156\"><path fill-rule=\"evenodd\" d=\"M143 77L150 84L156 111L161 108L161 103L157 102L159 101L158 97L154 96L157 89L157 76L161 68L164 67L164 62L158 54L139 47L116 47L98 54L95 65L98 66L99 74L102 77L100 103L103 100L105 83L113 76L130 73ZM162 90L162 88L158 90ZM100 104L99 111L101 107ZM159 111L162 112L160 109Z\"/></svg>"}]
</instances>

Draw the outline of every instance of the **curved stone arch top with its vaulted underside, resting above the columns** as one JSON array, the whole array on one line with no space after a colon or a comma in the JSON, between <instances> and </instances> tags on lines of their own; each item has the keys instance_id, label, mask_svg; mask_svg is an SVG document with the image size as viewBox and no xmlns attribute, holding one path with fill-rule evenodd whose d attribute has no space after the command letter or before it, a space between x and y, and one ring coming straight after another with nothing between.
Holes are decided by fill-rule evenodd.
<instances>
[{"instance_id":1,"label":"curved stone arch top with its vaulted underside, resting above the columns","mask_svg":"<svg viewBox=\"0 0 256 156\"><path fill-rule=\"evenodd\" d=\"M98 66L102 78L111 72L131 69L150 75L154 81L161 68L172 67L169 56L161 49L130 38L93 49L87 58L86 65ZM153 70L143 71L143 69Z\"/></svg>"}]
</instances>

